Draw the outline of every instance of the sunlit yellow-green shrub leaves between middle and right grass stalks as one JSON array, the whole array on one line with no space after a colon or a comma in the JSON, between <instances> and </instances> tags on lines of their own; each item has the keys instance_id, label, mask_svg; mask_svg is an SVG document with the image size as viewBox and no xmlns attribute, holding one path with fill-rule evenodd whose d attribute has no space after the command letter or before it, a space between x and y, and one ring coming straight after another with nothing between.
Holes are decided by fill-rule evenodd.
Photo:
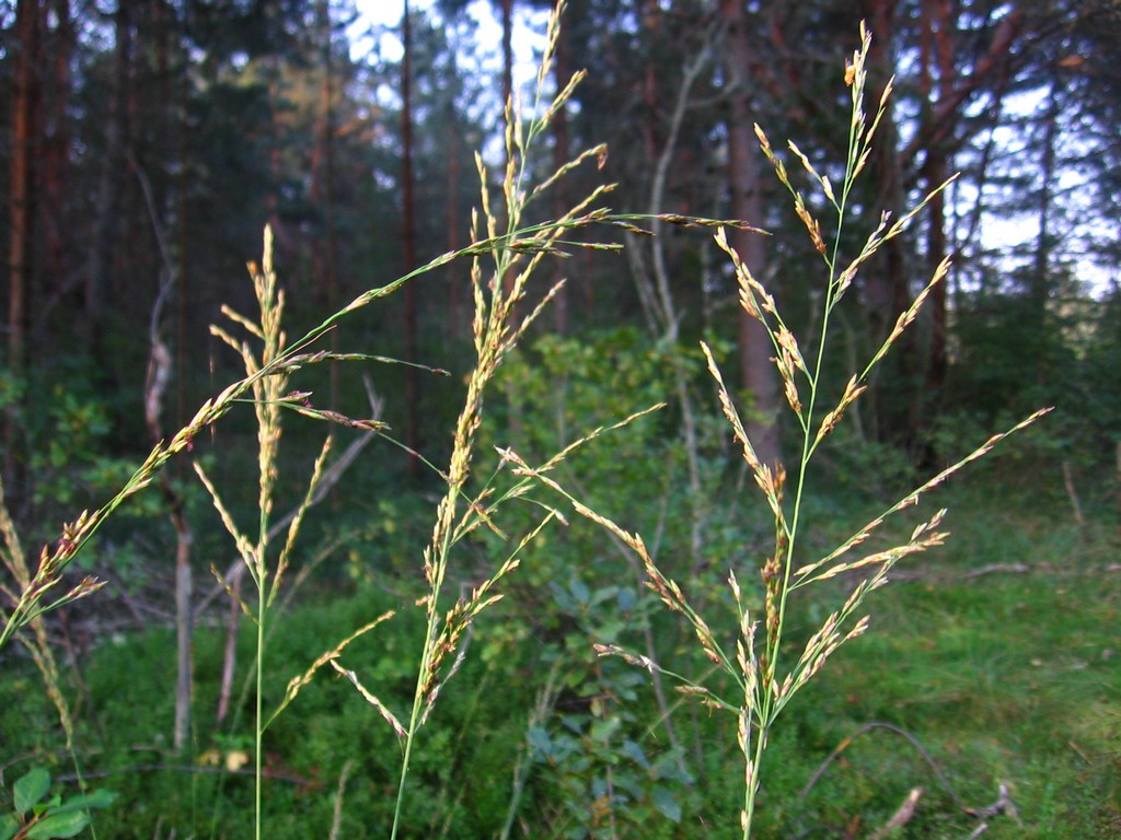
<instances>
[{"instance_id":1,"label":"sunlit yellow-green shrub leaves between middle and right grass stalks","mask_svg":"<svg viewBox=\"0 0 1121 840\"><path fill-rule=\"evenodd\" d=\"M700 364L678 348L652 345L630 327L543 336L503 371L484 446L509 445L530 463L544 460L591 429L673 402L674 365L696 373ZM664 409L626 435L573 452L559 469L593 508L610 501L612 510L626 511L645 528L663 523L667 550L677 551L687 543L688 522L687 500L677 492L686 466L678 429L679 417ZM602 562L602 538L593 530L573 526L560 539L565 551L554 554L556 564L530 570L540 582L564 577L573 558ZM548 554L543 562L549 563Z\"/></svg>"}]
</instances>

